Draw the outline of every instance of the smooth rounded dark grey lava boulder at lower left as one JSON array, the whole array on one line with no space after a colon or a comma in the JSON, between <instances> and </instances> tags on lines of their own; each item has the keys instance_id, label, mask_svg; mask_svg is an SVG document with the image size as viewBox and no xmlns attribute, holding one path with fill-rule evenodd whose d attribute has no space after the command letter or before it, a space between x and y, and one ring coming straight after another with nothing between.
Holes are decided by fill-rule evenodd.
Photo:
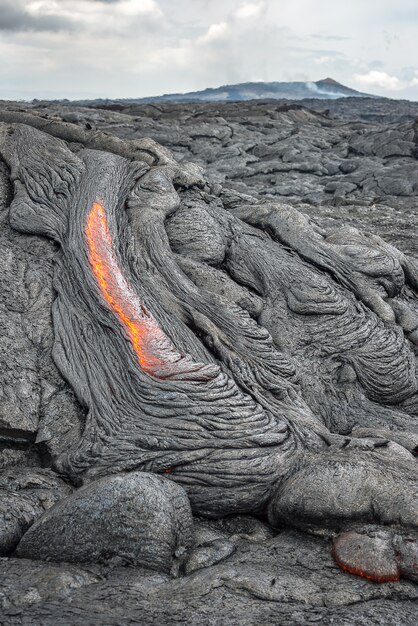
<instances>
[{"instance_id":1,"label":"smooth rounded dark grey lava boulder at lower left","mask_svg":"<svg viewBox=\"0 0 418 626\"><path fill-rule=\"evenodd\" d=\"M186 494L143 472L110 476L57 503L26 532L16 554L28 559L117 561L170 571L192 541Z\"/></svg>"}]
</instances>

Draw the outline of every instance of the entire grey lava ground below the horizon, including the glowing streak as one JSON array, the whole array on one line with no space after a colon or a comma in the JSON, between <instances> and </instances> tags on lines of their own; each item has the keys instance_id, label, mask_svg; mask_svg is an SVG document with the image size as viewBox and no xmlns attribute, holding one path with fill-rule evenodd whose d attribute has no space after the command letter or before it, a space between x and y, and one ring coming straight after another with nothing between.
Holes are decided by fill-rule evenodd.
<instances>
[{"instance_id":1,"label":"entire grey lava ground below the horizon, including the glowing streak","mask_svg":"<svg viewBox=\"0 0 418 626\"><path fill-rule=\"evenodd\" d=\"M418 106L330 106L0 108L8 624L416 621Z\"/></svg>"}]
</instances>

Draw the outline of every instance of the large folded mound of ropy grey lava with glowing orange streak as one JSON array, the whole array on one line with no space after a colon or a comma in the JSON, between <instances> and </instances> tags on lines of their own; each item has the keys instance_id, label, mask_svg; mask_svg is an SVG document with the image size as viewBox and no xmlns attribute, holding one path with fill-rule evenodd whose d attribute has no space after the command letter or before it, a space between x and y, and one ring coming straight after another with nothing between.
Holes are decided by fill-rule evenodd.
<instances>
[{"instance_id":1,"label":"large folded mound of ropy grey lava with glowing orange streak","mask_svg":"<svg viewBox=\"0 0 418 626\"><path fill-rule=\"evenodd\" d=\"M85 486L19 554L54 558L45 533L113 481L161 493L163 569L190 506L326 528L346 571L416 577L415 262L355 229L327 237L292 207L215 193L156 144L32 117L4 124L0 152L13 228L59 244L53 355L86 420L53 469Z\"/></svg>"}]
</instances>

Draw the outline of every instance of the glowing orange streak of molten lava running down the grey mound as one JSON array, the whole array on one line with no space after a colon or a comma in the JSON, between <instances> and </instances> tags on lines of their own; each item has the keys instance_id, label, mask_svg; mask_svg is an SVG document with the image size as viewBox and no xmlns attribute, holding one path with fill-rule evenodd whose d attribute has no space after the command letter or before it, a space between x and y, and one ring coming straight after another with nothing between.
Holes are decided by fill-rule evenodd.
<instances>
[{"instance_id":1,"label":"glowing orange streak of molten lava running down the grey mound","mask_svg":"<svg viewBox=\"0 0 418 626\"><path fill-rule=\"evenodd\" d=\"M87 216L88 259L101 294L121 323L140 367L158 377L186 369L183 357L129 284L113 248L105 209L94 202ZM182 367L183 366L183 367Z\"/></svg>"}]
</instances>

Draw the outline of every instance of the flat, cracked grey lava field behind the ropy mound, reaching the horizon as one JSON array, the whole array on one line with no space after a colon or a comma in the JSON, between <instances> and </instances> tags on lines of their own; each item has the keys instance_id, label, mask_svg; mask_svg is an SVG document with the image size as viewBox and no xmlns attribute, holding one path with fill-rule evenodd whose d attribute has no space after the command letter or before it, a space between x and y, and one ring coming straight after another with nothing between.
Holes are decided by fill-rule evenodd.
<instances>
[{"instance_id":1,"label":"flat, cracked grey lava field behind the ropy mound, reaching the horizon","mask_svg":"<svg viewBox=\"0 0 418 626\"><path fill-rule=\"evenodd\" d=\"M418 103L344 98L92 107L33 105L121 138L151 137L213 183L371 229L416 252ZM407 215L407 219L404 216Z\"/></svg>"}]
</instances>

